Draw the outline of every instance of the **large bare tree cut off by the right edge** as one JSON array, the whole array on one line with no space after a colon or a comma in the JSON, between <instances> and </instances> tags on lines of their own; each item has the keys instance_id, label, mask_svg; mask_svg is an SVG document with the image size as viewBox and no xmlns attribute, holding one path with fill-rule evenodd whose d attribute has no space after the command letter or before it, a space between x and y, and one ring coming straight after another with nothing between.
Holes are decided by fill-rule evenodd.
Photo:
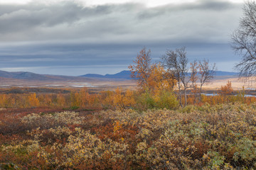
<instances>
[{"instance_id":1,"label":"large bare tree cut off by the right edge","mask_svg":"<svg viewBox=\"0 0 256 170\"><path fill-rule=\"evenodd\" d=\"M245 1L240 26L233 32L232 47L242 61L235 67L240 71L240 77L251 77L256 74L256 4L255 1Z\"/></svg>"}]
</instances>

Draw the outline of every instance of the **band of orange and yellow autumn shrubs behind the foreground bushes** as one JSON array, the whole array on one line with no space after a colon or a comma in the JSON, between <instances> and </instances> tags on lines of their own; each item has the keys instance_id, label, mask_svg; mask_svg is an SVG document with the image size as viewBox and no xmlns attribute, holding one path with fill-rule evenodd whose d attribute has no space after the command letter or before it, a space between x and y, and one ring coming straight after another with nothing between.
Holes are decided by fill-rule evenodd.
<instances>
[{"instance_id":1,"label":"band of orange and yellow autumn shrubs behind the foreground bushes","mask_svg":"<svg viewBox=\"0 0 256 170\"><path fill-rule=\"evenodd\" d=\"M198 94L191 91L187 95L187 104L202 106L223 103L254 103L254 96L245 96L245 91L233 91L229 93L223 86L213 96ZM230 91L230 90L228 90ZM146 111L150 108L176 109L180 106L178 92L173 89L145 89L100 91L91 93L86 88L73 89L65 94L0 94L0 108L63 108L63 109L119 109L132 108L137 111ZM185 99L181 96L181 102Z\"/></svg>"}]
</instances>

